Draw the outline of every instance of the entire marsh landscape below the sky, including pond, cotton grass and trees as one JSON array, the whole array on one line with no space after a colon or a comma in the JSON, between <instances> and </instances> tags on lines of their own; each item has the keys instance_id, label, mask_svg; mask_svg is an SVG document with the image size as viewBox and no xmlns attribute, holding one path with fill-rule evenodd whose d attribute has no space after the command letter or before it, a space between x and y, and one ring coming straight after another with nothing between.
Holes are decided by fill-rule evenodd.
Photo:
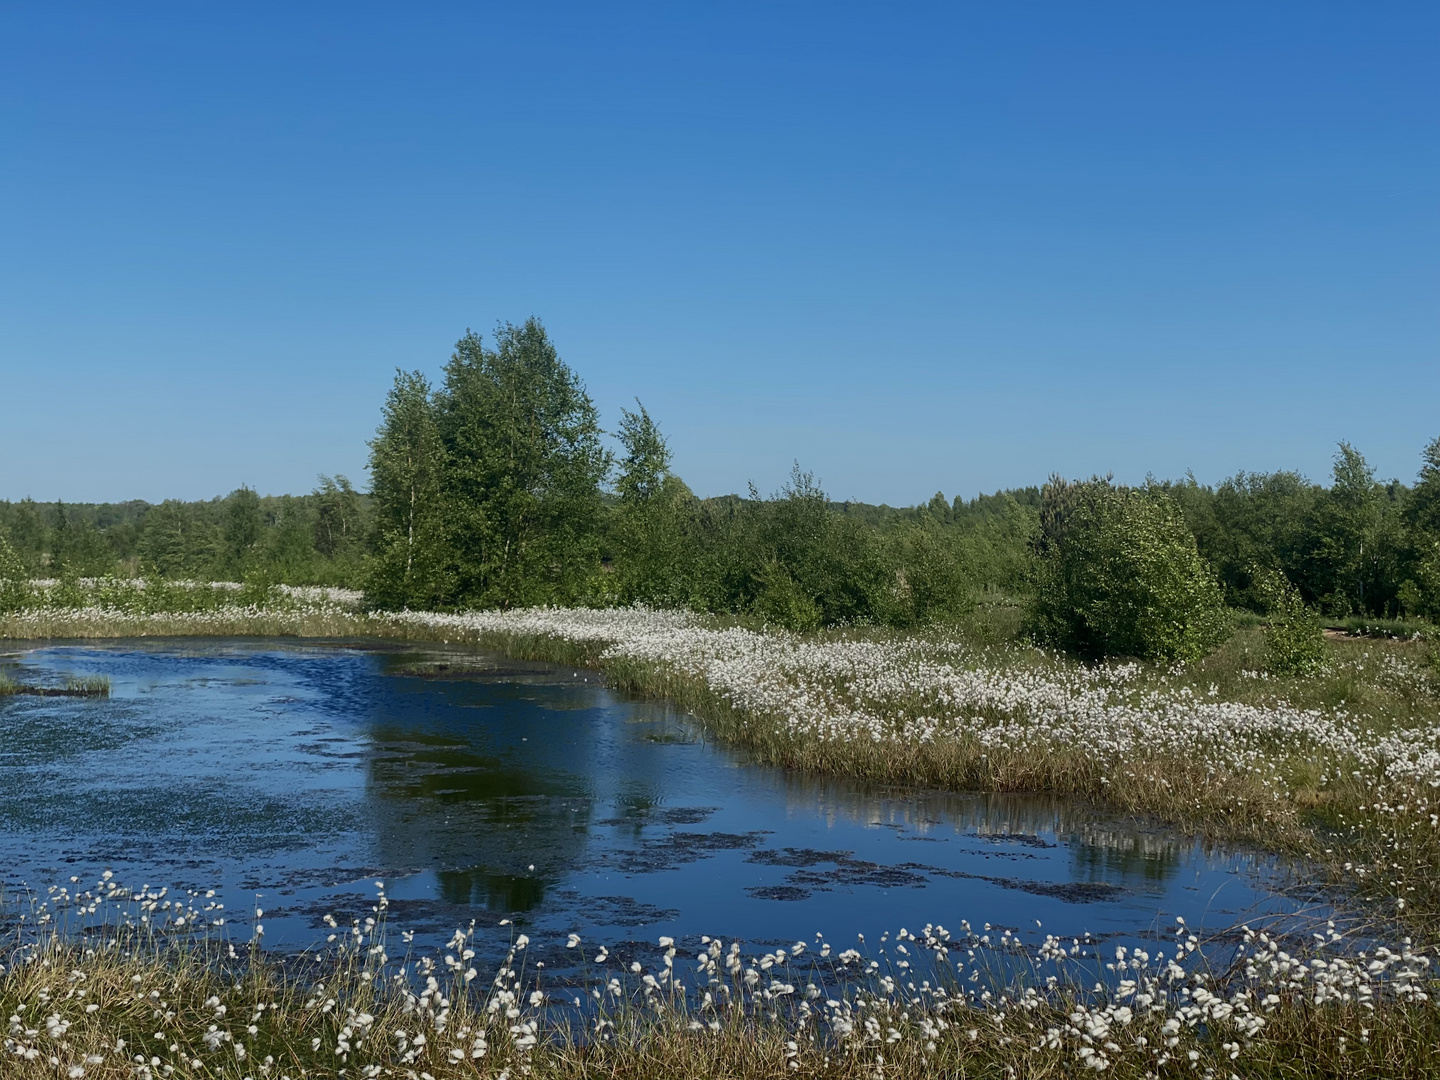
<instances>
[{"instance_id":1,"label":"entire marsh landscape below the sky, including pond, cotton grass and trees","mask_svg":"<svg viewBox=\"0 0 1440 1080\"><path fill-rule=\"evenodd\" d=\"M370 451L0 504L6 1076L1440 1070L1440 439L703 500L531 320Z\"/></svg>"}]
</instances>

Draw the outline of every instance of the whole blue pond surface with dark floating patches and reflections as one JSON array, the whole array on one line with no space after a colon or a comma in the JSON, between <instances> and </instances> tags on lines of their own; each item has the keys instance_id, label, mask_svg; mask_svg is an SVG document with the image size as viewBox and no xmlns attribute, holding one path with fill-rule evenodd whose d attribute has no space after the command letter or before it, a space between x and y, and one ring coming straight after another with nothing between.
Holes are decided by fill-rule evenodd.
<instances>
[{"instance_id":1,"label":"whole blue pond surface with dark floating patches and reflections","mask_svg":"<svg viewBox=\"0 0 1440 1080\"><path fill-rule=\"evenodd\" d=\"M402 924L442 936L516 916L611 940L847 940L962 919L1129 939L1289 903L1260 887L1261 861L1063 799L750 766L560 668L167 641L43 648L6 670L114 688L0 700L6 880L108 867L132 887L223 887L232 909L261 891L271 943L312 940L330 910L367 914L376 877Z\"/></svg>"}]
</instances>

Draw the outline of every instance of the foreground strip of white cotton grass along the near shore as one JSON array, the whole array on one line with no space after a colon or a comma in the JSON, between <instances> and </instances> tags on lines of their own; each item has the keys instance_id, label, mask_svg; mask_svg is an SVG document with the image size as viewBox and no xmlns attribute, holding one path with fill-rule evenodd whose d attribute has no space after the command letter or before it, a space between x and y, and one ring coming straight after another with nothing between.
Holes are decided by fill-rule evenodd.
<instances>
[{"instance_id":1,"label":"foreground strip of white cotton grass along the near shore","mask_svg":"<svg viewBox=\"0 0 1440 1080\"><path fill-rule=\"evenodd\" d=\"M12 904L6 1076L927 1077L1420 1076L1440 1067L1431 958L1243 929L1215 968L1182 923L1152 949L1020 943L929 924L838 949L707 936L612 949L516 933L480 971L472 927L416 955L372 914L285 960L264 909L105 874ZM14 910L17 909L17 910ZM235 937L230 927L239 927ZM392 937L403 955L392 956ZM550 960L549 966L546 963ZM999 976L998 972L1005 972ZM1017 973L1018 972L1018 973Z\"/></svg>"}]
</instances>

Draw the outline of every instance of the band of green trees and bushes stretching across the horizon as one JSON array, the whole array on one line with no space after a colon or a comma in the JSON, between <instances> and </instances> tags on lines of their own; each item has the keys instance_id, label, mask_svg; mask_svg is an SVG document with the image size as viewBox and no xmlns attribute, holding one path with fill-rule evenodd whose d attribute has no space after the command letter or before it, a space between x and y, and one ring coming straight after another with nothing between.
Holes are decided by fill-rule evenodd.
<instances>
[{"instance_id":1,"label":"band of green trees and bushes stretching across the horizon","mask_svg":"<svg viewBox=\"0 0 1440 1080\"><path fill-rule=\"evenodd\" d=\"M1080 652L1146 651L1122 609L1169 619L1153 631L1174 638L1166 655L1218 632L1175 613L1197 605L1264 613L1289 596L1312 615L1440 621L1440 439L1410 485L1341 444L1328 484L1051 477L896 508L831 501L796 465L778 492L697 498L644 406L605 432L531 320L488 344L467 333L438 386L397 373L370 448L369 492L321 477L305 495L0 503L0 540L35 577L348 585L393 608L644 602L809 629L945 622L1007 598ZM1119 638L1099 629L1116 619Z\"/></svg>"}]
</instances>

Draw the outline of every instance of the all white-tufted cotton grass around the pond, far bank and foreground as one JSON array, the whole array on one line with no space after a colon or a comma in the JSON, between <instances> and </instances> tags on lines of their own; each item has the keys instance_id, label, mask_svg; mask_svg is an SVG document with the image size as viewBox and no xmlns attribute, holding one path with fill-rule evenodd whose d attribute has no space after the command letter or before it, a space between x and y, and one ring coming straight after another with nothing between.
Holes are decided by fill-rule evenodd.
<instances>
[{"instance_id":1,"label":"all white-tufted cotton grass around the pond, far bank and foreground","mask_svg":"<svg viewBox=\"0 0 1440 1080\"><path fill-rule=\"evenodd\" d=\"M225 927L197 929L216 920L192 914L194 897L101 883L16 913L0 1007L7 1060L30 1070L17 1076L1440 1073L1426 945L1440 923L1440 674L1423 642L1331 642L1320 675L1277 678L1244 632L1156 670L963 631L379 613L275 589L173 612L140 590L96 592L7 616L0 635L363 635L595 667L762 762L1048 791L1296 855L1358 923L1308 942L1261 927L1204 942L1176 926L1153 952L1100 960L1080 943L937 926L858 952L667 939L625 965L575 942L583 968L547 975L524 936L498 971L475 971L464 927L442 956L392 959L379 899L373 926L287 962L255 933L236 948ZM79 933L81 912L109 929Z\"/></svg>"}]
</instances>

